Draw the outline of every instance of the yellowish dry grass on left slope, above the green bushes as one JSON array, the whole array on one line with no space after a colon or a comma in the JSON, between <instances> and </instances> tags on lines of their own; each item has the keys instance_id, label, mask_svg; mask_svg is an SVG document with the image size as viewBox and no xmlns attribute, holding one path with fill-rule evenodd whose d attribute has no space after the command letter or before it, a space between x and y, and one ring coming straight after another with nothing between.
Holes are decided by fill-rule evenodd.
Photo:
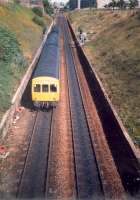
<instances>
[{"instance_id":1,"label":"yellowish dry grass on left slope, above the green bushes","mask_svg":"<svg viewBox=\"0 0 140 200\"><path fill-rule=\"evenodd\" d=\"M17 4L0 6L0 25L7 27L16 37L26 58L31 59L42 39L42 27L33 22L35 14ZM47 24L50 18L47 18Z\"/></svg>"}]
</instances>

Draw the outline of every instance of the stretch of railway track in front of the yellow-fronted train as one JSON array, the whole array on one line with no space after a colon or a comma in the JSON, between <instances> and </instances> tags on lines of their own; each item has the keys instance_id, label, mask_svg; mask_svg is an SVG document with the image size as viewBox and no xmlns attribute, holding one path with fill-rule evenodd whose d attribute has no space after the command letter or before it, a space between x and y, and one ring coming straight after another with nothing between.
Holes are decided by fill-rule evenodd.
<instances>
[{"instance_id":1,"label":"stretch of railway track in front of the yellow-fronted train","mask_svg":"<svg viewBox=\"0 0 140 200\"><path fill-rule=\"evenodd\" d=\"M17 198L43 198L52 137L54 111L37 111L21 174Z\"/></svg>"}]
</instances>

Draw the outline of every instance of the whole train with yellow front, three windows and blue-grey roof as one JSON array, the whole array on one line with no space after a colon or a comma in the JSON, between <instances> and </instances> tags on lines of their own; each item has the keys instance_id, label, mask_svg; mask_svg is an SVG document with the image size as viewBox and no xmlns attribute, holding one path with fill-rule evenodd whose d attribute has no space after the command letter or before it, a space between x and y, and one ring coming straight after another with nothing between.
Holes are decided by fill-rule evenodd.
<instances>
[{"instance_id":1,"label":"whole train with yellow front, three windows and blue-grey roof","mask_svg":"<svg viewBox=\"0 0 140 200\"><path fill-rule=\"evenodd\" d=\"M36 107L54 106L59 101L59 38L59 27L54 25L32 76L32 101Z\"/></svg>"}]
</instances>

